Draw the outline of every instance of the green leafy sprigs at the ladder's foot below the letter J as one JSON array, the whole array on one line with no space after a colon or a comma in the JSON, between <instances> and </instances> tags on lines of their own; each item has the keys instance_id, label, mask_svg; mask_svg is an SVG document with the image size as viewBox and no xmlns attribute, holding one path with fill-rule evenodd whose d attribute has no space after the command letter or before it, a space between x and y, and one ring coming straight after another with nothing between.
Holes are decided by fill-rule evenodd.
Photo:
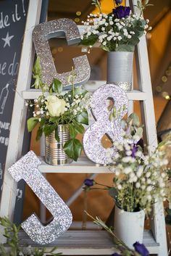
<instances>
[{"instance_id":1,"label":"green leafy sprigs at the ladder's foot below the letter J","mask_svg":"<svg viewBox=\"0 0 171 256\"><path fill-rule=\"evenodd\" d=\"M35 255L43 256L45 254L49 255L62 255L62 253L54 253L57 247L51 249L50 252L46 252L46 248L32 248L30 245L27 248L20 246L19 232L20 226L16 226L11 223L7 217L0 218L0 225L4 227L4 236L7 238L7 242L4 244L0 243L0 254L3 256L26 256ZM26 247L26 246L25 246ZM10 252L9 252L10 249Z\"/></svg>"}]
</instances>

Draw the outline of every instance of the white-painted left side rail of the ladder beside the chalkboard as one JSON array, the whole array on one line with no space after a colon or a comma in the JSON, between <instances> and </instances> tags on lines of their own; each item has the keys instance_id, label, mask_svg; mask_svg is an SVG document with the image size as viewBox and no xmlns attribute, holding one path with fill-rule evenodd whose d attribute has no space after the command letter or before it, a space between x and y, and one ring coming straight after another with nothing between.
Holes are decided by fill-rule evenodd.
<instances>
[{"instance_id":1,"label":"white-painted left side rail of the ladder beside the chalkboard","mask_svg":"<svg viewBox=\"0 0 171 256\"><path fill-rule=\"evenodd\" d=\"M22 152L22 141L25 131L27 109L25 107L25 101L20 95L23 90L30 88L34 58L32 31L34 26L38 24L40 15L41 0L30 1L22 44L22 54L20 58L20 68L16 88L17 93L14 97L12 123L9 134L9 146L4 170L4 183L1 193L0 216L9 216L10 219L12 219L14 212L17 184L9 175L7 169L20 158ZM1 237L0 241L3 240L4 237Z\"/></svg>"}]
</instances>

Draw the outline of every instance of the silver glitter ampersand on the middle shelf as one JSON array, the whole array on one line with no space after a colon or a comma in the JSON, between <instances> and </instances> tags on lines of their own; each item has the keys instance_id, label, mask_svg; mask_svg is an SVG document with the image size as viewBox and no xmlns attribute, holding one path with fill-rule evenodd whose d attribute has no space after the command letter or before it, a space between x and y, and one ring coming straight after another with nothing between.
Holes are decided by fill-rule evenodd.
<instances>
[{"instance_id":1,"label":"silver glitter ampersand on the middle shelf","mask_svg":"<svg viewBox=\"0 0 171 256\"><path fill-rule=\"evenodd\" d=\"M113 99L117 115L111 122L110 111L107 109L107 99ZM109 163L107 150L101 144L101 139L106 133L112 141L122 142L122 117L128 110L128 97L121 88L114 84L99 87L92 96L91 112L96 120L83 136L83 148L87 157L96 163ZM112 111L112 110L111 110ZM114 149L114 148L113 148ZM116 149L113 150L116 152Z\"/></svg>"}]
</instances>

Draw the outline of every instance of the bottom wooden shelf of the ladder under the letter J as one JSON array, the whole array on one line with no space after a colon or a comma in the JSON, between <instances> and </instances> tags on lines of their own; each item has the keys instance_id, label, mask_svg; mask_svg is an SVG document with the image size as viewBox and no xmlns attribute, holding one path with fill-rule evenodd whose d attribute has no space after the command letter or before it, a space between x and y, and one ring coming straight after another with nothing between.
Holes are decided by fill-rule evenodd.
<instances>
[{"instance_id":1,"label":"bottom wooden shelf of the ladder under the letter J","mask_svg":"<svg viewBox=\"0 0 171 256\"><path fill-rule=\"evenodd\" d=\"M67 231L52 244L40 246L30 240L24 231L20 231L20 245L30 244L31 247L46 247L47 252L57 246L57 252L63 255L112 255L117 252L114 248L113 238L107 231ZM144 231L143 244L150 253L159 252L159 244L154 241L151 231Z\"/></svg>"}]
</instances>

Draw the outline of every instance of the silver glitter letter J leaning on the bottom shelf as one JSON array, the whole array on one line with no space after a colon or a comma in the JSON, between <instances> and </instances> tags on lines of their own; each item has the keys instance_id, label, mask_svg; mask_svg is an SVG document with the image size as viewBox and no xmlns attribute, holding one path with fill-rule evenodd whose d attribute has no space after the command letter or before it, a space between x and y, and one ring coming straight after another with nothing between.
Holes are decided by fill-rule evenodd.
<instances>
[{"instance_id":1,"label":"silver glitter letter J leaning on the bottom shelf","mask_svg":"<svg viewBox=\"0 0 171 256\"><path fill-rule=\"evenodd\" d=\"M38 165L40 164L36 154L30 151L9 168L9 173L15 181L20 181L23 178L53 215L54 219L47 226L43 226L35 214L22 223L22 228L30 236L30 239L38 244L49 244L70 227L72 213L39 172Z\"/></svg>"}]
</instances>

